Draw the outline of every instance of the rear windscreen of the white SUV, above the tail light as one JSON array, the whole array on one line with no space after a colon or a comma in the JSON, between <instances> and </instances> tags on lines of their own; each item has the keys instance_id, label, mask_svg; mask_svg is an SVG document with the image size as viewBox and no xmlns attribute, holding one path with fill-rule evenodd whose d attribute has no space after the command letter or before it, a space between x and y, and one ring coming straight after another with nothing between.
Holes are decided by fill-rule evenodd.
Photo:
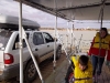
<instances>
[{"instance_id":1,"label":"rear windscreen of the white SUV, above the tail light","mask_svg":"<svg viewBox=\"0 0 110 83\"><path fill-rule=\"evenodd\" d=\"M0 50L6 49L11 34L12 34L12 32L10 32L10 31L1 31L0 32Z\"/></svg>"}]
</instances>

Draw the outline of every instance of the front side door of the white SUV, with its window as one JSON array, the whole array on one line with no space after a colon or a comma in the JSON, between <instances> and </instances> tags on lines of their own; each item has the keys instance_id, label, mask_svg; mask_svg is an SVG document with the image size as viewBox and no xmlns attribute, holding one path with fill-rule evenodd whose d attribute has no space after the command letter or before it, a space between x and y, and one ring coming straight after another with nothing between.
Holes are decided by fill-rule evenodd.
<instances>
[{"instance_id":1,"label":"front side door of the white SUV, with its window","mask_svg":"<svg viewBox=\"0 0 110 83\"><path fill-rule=\"evenodd\" d=\"M54 39L50 33L43 32L45 44L47 49L47 55L51 56L54 53Z\"/></svg>"}]
</instances>

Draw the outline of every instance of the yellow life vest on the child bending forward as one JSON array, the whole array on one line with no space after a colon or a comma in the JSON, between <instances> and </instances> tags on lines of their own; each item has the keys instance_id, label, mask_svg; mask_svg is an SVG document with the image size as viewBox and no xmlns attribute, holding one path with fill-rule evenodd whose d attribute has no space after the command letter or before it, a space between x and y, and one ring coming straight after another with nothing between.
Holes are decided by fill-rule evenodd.
<instances>
[{"instance_id":1,"label":"yellow life vest on the child bending forward","mask_svg":"<svg viewBox=\"0 0 110 83\"><path fill-rule=\"evenodd\" d=\"M75 81L75 83L92 83L92 64L91 64L91 62L89 61L88 69L84 72L79 69L78 59L79 59L79 55L72 56L72 61L74 62L74 65L75 65L75 70L74 70L75 79L85 79L85 77L91 77L91 79Z\"/></svg>"}]
</instances>

